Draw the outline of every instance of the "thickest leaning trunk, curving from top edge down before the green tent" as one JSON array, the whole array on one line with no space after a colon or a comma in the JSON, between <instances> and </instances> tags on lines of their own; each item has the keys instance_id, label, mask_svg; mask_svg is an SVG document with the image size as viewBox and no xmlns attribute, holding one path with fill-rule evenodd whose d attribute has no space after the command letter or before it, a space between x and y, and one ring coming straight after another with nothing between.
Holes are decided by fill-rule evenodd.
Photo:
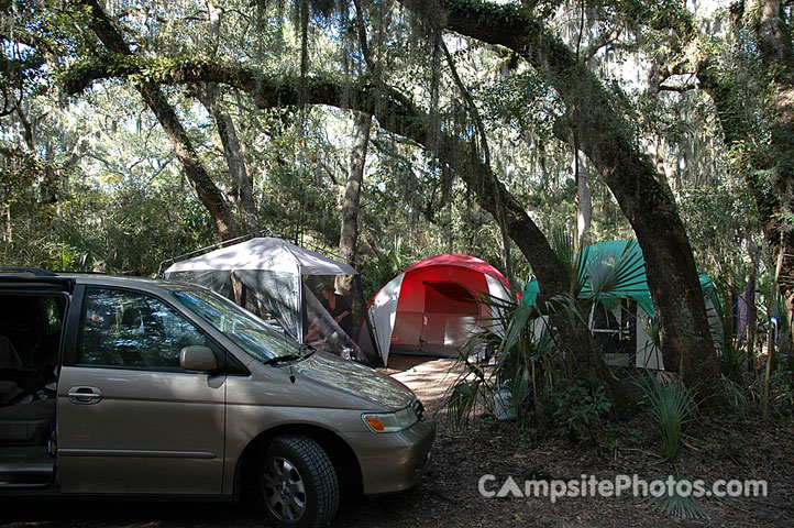
<instances>
[{"instance_id":1,"label":"thickest leaning trunk, curving from top edge down before the green tent","mask_svg":"<svg viewBox=\"0 0 794 528\"><path fill-rule=\"evenodd\" d=\"M398 0L438 21L437 4ZM637 234L646 258L648 285L657 309L664 366L703 395L710 393L719 366L706 317L692 248L675 201L635 141L619 106L571 50L540 21L515 6L468 0L440 0L444 28L505 46L547 74L567 106L555 133L570 141L571 130L603 175ZM540 285L543 288L543 285Z\"/></svg>"}]
</instances>

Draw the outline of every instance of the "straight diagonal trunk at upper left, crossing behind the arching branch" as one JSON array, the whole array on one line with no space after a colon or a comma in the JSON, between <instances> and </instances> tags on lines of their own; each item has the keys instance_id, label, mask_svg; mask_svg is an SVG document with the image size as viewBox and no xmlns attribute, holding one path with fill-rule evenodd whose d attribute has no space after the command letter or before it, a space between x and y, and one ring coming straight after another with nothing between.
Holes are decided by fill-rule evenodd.
<instances>
[{"instance_id":1,"label":"straight diagonal trunk at upper left, crossing behind the arching branch","mask_svg":"<svg viewBox=\"0 0 794 528\"><path fill-rule=\"evenodd\" d=\"M90 28L110 53L132 56L132 52L124 41L124 37L119 30L115 29L96 0L78 0L77 3L88 8L91 16L89 22ZM229 205L207 174L174 108L168 103L168 99L156 84L139 82L135 88L148 108L152 109L157 117L157 121L159 121L168 140L172 145L174 145L174 151L179 162L181 162L185 176L187 176L199 200L212 217L220 238L222 240L229 240L238 237L236 222L234 221Z\"/></svg>"}]
</instances>

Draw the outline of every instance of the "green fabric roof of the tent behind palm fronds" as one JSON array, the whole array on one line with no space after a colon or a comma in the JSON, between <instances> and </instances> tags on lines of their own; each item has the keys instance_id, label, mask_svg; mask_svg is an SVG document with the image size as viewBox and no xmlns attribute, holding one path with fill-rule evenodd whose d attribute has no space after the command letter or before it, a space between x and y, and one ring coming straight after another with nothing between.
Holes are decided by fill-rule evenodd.
<instances>
[{"instance_id":1,"label":"green fabric roof of the tent behind palm fronds","mask_svg":"<svg viewBox=\"0 0 794 528\"><path fill-rule=\"evenodd\" d=\"M588 279L582 288L581 297L588 297L593 294L593 280L603 277L605 272L613 272L611 278L616 283L607 288L608 295L600 295L602 300L629 298L637 301L649 316L654 317L655 311L646 276L646 260L642 256L640 244L636 240L613 240L589 245L580 252L580 261L582 258L585 260L584 270ZM704 294L710 294L712 300L716 302L714 282L701 270L697 271L697 274ZM533 304L538 292L538 280L533 278L523 290L521 304Z\"/></svg>"}]
</instances>

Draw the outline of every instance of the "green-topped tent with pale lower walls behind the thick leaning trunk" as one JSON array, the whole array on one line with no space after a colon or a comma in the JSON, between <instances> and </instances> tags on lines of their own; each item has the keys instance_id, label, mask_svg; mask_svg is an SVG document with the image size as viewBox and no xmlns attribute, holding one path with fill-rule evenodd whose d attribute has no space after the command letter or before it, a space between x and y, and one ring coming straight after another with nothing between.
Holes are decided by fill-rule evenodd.
<instances>
[{"instance_id":1,"label":"green-topped tent with pale lower walls behind the thick leaning trunk","mask_svg":"<svg viewBox=\"0 0 794 528\"><path fill-rule=\"evenodd\" d=\"M627 355L628 361L624 361L624 364L664 369L661 351L650 337L651 321L655 317L655 311L648 288L646 260L640 245L635 240L600 242L582 249L578 261L583 260L584 265L581 270L588 278L584 282L580 297L593 297L594 289L602 289L594 288L594 280L610 283L598 293L599 302L588 315L591 329L604 345L607 359ZM716 287L708 275L701 270L697 273L712 337L715 345L720 349L723 328L715 309L719 302ZM539 292L538 280L533 278L527 284L521 302L533 304Z\"/></svg>"}]
</instances>

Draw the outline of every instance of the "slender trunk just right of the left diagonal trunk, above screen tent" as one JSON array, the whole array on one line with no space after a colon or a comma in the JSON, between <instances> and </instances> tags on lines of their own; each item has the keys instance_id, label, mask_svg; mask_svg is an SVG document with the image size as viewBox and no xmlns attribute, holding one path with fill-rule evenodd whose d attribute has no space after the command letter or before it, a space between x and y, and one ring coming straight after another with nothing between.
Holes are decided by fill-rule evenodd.
<instances>
[{"instance_id":1,"label":"slender trunk just right of the left diagonal trunk, above screen tent","mask_svg":"<svg viewBox=\"0 0 794 528\"><path fill-rule=\"evenodd\" d=\"M232 117L223 110L220 99L220 90L214 86L206 89L197 89L196 97L201 105L210 112L218 128L218 135L223 145L223 154L229 166L231 188L227 195L229 200L238 207L243 231L253 233L262 229L258 210L254 202L253 183L249 175L249 168L240 146L240 139L234 127Z\"/></svg>"}]
</instances>

